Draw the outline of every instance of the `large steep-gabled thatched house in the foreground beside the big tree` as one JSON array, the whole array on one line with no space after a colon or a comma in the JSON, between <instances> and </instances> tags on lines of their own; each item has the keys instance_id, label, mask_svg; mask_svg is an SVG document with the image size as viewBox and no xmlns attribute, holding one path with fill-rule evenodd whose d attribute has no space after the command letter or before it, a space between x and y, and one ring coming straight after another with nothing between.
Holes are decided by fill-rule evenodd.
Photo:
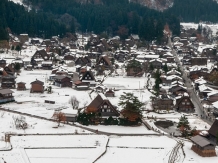
<instances>
[{"instance_id":1,"label":"large steep-gabled thatched house in the foreground beside the big tree","mask_svg":"<svg viewBox=\"0 0 218 163\"><path fill-rule=\"evenodd\" d=\"M99 93L97 97L87 106L85 112L97 112L103 117L119 116L116 108L110 103L103 93Z\"/></svg>"}]
</instances>

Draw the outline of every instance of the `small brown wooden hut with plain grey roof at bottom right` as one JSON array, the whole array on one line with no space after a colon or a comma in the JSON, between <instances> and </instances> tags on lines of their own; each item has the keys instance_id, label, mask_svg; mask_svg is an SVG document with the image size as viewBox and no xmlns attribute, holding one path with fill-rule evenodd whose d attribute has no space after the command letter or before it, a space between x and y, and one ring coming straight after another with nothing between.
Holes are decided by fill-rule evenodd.
<instances>
[{"instance_id":1,"label":"small brown wooden hut with plain grey roof at bottom right","mask_svg":"<svg viewBox=\"0 0 218 163\"><path fill-rule=\"evenodd\" d=\"M216 143L207 139L206 137L196 135L191 138L193 145L191 149L202 157L216 156Z\"/></svg>"}]
</instances>

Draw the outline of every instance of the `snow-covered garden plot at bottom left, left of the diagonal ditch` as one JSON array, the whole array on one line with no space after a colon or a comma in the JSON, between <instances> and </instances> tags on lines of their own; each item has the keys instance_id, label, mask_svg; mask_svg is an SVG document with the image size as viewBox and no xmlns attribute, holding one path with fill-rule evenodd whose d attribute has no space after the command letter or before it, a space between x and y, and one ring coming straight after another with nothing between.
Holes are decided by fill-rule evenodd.
<instances>
[{"instance_id":1,"label":"snow-covered garden plot at bottom left, left of the diagonal ditch","mask_svg":"<svg viewBox=\"0 0 218 163\"><path fill-rule=\"evenodd\" d=\"M89 163L104 152L107 141L104 135L13 136L13 150L0 152L0 158L7 163Z\"/></svg>"}]
</instances>

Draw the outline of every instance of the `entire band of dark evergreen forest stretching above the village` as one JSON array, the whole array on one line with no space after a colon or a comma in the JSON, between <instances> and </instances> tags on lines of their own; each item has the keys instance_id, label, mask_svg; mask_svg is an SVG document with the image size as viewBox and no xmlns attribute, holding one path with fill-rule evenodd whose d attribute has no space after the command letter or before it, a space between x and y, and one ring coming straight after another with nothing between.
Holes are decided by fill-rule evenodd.
<instances>
[{"instance_id":1,"label":"entire band of dark evergreen forest stretching above the village","mask_svg":"<svg viewBox=\"0 0 218 163\"><path fill-rule=\"evenodd\" d=\"M173 7L164 12L148 9L128 0L24 0L23 6L0 1L0 39L7 39L7 31L28 33L49 38L66 32L94 32L96 34L139 34L145 40L160 40L168 24L179 35L180 21L218 21L218 4L212 0L174 0ZM97 3L96 2L100 2Z\"/></svg>"}]
</instances>

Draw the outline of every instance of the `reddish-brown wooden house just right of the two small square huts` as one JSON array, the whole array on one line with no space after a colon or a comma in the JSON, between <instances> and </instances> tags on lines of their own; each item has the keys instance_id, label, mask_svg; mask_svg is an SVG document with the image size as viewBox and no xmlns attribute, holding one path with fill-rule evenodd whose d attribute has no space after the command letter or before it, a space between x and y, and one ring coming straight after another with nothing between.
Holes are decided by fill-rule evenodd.
<instances>
[{"instance_id":1,"label":"reddish-brown wooden house just right of the two small square huts","mask_svg":"<svg viewBox=\"0 0 218 163\"><path fill-rule=\"evenodd\" d=\"M56 76L54 77L54 85L58 87L72 87L71 77L68 76Z\"/></svg>"}]
</instances>

